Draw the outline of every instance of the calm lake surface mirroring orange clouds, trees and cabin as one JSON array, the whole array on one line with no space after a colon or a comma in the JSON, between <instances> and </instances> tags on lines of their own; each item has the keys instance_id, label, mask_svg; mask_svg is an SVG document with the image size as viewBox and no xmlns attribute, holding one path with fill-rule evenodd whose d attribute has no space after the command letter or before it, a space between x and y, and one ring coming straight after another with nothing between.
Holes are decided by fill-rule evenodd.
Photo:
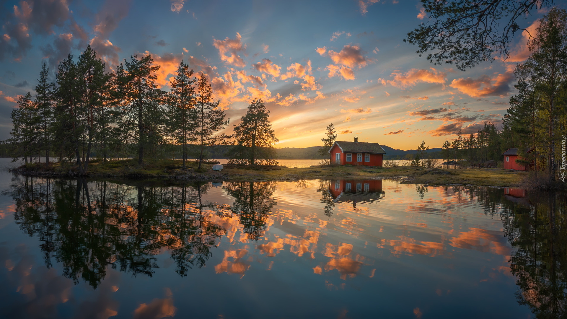
<instances>
[{"instance_id":1,"label":"calm lake surface mirroring orange clouds, trees and cabin","mask_svg":"<svg viewBox=\"0 0 567 319\"><path fill-rule=\"evenodd\" d=\"M2 160L2 318L566 315L565 193L46 179Z\"/></svg>"}]
</instances>

